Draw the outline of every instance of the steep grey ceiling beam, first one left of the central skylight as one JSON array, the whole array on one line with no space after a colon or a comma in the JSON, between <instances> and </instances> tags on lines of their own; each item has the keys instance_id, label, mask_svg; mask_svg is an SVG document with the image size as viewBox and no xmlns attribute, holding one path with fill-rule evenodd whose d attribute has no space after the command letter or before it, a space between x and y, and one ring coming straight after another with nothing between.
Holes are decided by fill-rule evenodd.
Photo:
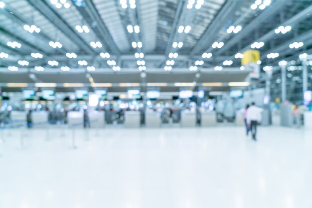
<instances>
[{"instance_id":1,"label":"steep grey ceiling beam, first one left of the central skylight","mask_svg":"<svg viewBox=\"0 0 312 208\"><path fill-rule=\"evenodd\" d=\"M120 54L119 48L115 43L110 31L102 20L98 10L96 9L92 0L86 0L85 6L77 6L78 11L84 17L89 25L93 25L96 22L96 26L92 28L97 37L105 45L106 49L110 49L109 52L116 55Z\"/></svg>"}]
</instances>

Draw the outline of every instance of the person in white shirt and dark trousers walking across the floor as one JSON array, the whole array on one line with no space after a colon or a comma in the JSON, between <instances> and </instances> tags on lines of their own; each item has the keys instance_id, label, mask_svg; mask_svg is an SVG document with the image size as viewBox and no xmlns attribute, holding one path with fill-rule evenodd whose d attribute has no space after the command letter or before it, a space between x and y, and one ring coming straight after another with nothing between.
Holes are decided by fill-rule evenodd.
<instances>
[{"instance_id":1,"label":"person in white shirt and dark trousers walking across the floor","mask_svg":"<svg viewBox=\"0 0 312 208\"><path fill-rule=\"evenodd\" d=\"M250 126L252 138L256 141L257 125L260 124L262 119L261 108L255 106L255 103L252 103L247 109L246 119L247 124Z\"/></svg>"}]
</instances>

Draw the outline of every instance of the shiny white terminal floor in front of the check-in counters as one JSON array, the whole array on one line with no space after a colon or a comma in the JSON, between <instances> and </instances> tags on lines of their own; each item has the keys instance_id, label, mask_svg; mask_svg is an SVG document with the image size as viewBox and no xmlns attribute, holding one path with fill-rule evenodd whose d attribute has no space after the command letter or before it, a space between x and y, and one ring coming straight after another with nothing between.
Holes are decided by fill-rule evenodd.
<instances>
[{"instance_id":1,"label":"shiny white terminal floor in front of the check-in counters","mask_svg":"<svg viewBox=\"0 0 312 208\"><path fill-rule=\"evenodd\" d=\"M4 132L0 208L312 208L312 130Z\"/></svg>"}]
</instances>

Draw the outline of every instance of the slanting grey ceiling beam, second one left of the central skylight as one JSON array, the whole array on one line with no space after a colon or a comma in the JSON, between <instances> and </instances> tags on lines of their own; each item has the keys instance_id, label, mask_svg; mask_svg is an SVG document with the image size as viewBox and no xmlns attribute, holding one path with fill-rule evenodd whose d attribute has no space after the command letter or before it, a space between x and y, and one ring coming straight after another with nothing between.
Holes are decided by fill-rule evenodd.
<instances>
[{"instance_id":1,"label":"slanting grey ceiling beam, second one left of the central skylight","mask_svg":"<svg viewBox=\"0 0 312 208\"><path fill-rule=\"evenodd\" d=\"M85 53L93 54L93 49L87 44L65 20L58 15L53 9L43 0L27 0L33 7L35 7L42 15L49 19L59 30L67 35L78 47Z\"/></svg>"}]
</instances>

